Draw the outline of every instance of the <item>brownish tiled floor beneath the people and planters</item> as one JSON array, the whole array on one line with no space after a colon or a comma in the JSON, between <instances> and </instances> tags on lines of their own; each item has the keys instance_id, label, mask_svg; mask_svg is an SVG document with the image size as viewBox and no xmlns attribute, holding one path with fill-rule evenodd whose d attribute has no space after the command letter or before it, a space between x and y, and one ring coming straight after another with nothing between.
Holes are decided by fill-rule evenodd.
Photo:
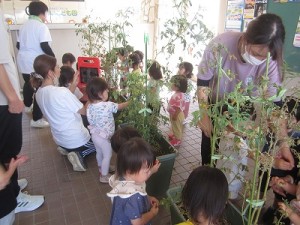
<instances>
[{"instance_id":1,"label":"brownish tiled floor beneath the people and planters","mask_svg":"<svg viewBox=\"0 0 300 225\"><path fill-rule=\"evenodd\" d=\"M196 105L191 106L191 111ZM29 126L30 115L23 114L23 148L30 160L19 168L19 177L28 180L25 191L45 196L45 203L33 212L16 216L15 225L107 225L111 201L109 185L98 181L95 155L86 159L88 170L74 172L65 156L60 155L49 128ZM166 134L169 127L162 127ZM190 171L200 164L201 132L189 125L176 158L171 186L183 184ZM170 225L169 212L160 208L153 225Z\"/></svg>"}]
</instances>

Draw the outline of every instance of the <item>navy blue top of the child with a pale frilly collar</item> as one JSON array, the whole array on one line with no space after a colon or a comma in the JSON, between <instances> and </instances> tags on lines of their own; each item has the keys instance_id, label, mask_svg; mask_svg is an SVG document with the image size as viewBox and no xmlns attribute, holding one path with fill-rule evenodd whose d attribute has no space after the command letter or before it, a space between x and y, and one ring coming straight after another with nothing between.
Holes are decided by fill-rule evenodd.
<instances>
[{"instance_id":1,"label":"navy blue top of the child with a pale frilly collar","mask_svg":"<svg viewBox=\"0 0 300 225\"><path fill-rule=\"evenodd\" d=\"M149 211L150 202L147 195L136 193L128 198L116 196L113 200L110 225L131 225L131 220L141 218L142 214Z\"/></svg>"}]
</instances>

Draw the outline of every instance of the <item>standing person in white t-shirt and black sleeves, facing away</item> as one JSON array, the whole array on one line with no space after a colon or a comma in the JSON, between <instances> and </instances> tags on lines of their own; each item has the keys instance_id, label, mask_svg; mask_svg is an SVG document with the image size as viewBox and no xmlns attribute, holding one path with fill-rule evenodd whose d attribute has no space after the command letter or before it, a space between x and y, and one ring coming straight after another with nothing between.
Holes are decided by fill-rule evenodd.
<instances>
[{"instance_id":1,"label":"standing person in white t-shirt and black sleeves, facing away","mask_svg":"<svg viewBox=\"0 0 300 225\"><path fill-rule=\"evenodd\" d=\"M31 111L32 101L34 101L30 125L42 128L48 127L49 124L43 119L43 114L33 98L34 89L31 87L29 81L30 73L34 71L33 61L38 55L48 54L54 56L54 53L49 46L49 42L52 41L49 29L44 24L46 21L46 12L48 11L47 5L41 1L34 1L29 4L28 9L29 19L19 31L17 63L25 81L23 96L26 112Z\"/></svg>"}]
</instances>

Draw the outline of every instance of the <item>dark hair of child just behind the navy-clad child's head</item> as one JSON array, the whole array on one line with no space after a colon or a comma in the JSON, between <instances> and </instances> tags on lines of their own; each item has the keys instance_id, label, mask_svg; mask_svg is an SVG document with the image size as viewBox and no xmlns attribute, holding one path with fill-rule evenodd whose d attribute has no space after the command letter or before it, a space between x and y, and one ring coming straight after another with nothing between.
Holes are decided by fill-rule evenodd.
<instances>
[{"instance_id":1,"label":"dark hair of child just behind the navy-clad child's head","mask_svg":"<svg viewBox=\"0 0 300 225\"><path fill-rule=\"evenodd\" d=\"M134 137L142 137L137 129L130 126L118 129L110 139L113 151L118 153L122 144Z\"/></svg>"}]
</instances>

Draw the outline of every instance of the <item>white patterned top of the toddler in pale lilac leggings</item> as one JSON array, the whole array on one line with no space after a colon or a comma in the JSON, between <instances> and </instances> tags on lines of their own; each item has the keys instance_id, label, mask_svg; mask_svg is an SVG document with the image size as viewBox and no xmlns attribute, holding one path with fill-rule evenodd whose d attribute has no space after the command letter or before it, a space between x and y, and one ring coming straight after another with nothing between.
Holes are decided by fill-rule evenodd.
<instances>
[{"instance_id":1,"label":"white patterned top of the toddler in pale lilac leggings","mask_svg":"<svg viewBox=\"0 0 300 225\"><path fill-rule=\"evenodd\" d=\"M113 113L118 111L114 102L91 103L87 108L87 118L91 133L98 133L103 138L110 139L115 132Z\"/></svg>"}]
</instances>

